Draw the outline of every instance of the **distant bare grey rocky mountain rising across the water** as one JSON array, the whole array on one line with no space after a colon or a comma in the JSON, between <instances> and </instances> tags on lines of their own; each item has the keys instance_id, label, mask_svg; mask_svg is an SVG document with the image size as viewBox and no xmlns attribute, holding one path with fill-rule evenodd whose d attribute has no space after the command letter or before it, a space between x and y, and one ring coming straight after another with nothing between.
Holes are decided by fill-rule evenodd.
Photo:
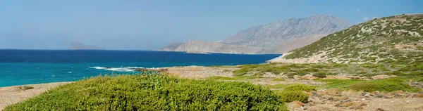
<instances>
[{"instance_id":1,"label":"distant bare grey rocky mountain rising across the water","mask_svg":"<svg viewBox=\"0 0 423 111\"><path fill-rule=\"evenodd\" d=\"M343 30L350 25L352 24L347 20L332 15L288 18L247 28L223 41L191 40L178 47L171 45L159 50L210 53L286 53L311 44L327 34Z\"/></svg>"}]
</instances>

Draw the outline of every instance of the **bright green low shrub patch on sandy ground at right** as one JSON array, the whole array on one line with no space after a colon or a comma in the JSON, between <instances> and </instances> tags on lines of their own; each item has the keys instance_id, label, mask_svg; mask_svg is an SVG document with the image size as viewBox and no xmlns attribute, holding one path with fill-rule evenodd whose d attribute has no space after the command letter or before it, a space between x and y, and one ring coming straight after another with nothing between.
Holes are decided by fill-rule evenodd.
<instances>
[{"instance_id":1,"label":"bright green low shrub patch on sandy ground at right","mask_svg":"<svg viewBox=\"0 0 423 111\"><path fill-rule=\"evenodd\" d=\"M389 79L377 79L377 80L345 80L345 79L319 79L317 81L328 82L324 88L326 89L340 89L340 90L353 90L353 91L409 91L417 92L420 89L413 88L409 84L406 84L409 79L403 77L395 77Z\"/></svg>"}]
</instances>

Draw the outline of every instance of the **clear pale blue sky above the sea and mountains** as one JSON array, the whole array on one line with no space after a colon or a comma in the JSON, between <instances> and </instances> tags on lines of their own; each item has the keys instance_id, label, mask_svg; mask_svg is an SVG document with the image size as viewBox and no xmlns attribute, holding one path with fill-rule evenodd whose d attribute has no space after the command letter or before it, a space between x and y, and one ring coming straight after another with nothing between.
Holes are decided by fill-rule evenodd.
<instances>
[{"instance_id":1,"label":"clear pale blue sky above the sea and mountains","mask_svg":"<svg viewBox=\"0 0 423 111\"><path fill-rule=\"evenodd\" d=\"M355 24L423 13L422 0L2 0L0 49L154 50L190 39L219 41L286 18L329 14Z\"/></svg>"}]
</instances>

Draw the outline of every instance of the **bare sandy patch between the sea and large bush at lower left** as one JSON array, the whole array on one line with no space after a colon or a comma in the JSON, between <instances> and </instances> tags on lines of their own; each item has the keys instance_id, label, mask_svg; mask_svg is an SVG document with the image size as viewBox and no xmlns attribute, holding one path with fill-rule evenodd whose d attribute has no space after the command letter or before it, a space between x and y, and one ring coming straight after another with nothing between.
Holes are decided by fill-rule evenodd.
<instances>
[{"instance_id":1,"label":"bare sandy patch between the sea and large bush at lower left","mask_svg":"<svg viewBox=\"0 0 423 111\"><path fill-rule=\"evenodd\" d=\"M20 86L8 86L0 88L0 110L3 110L7 105L18 103L27 98L37 96L49 89L71 82L56 82L49 84L30 84L24 86L32 86L34 89L21 89Z\"/></svg>"}]
</instances>

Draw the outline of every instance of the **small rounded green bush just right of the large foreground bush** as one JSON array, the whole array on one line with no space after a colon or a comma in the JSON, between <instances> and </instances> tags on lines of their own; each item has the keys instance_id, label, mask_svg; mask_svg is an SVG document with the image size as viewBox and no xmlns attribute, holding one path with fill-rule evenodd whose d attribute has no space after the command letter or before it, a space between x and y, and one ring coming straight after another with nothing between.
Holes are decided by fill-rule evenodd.
<instances>
[{"instance_id":1,"label":"small rounded green bush just right of the large foreground bush","mask_svg":"<svg viewBox=\"0 0 423 111\"><path fill-rule=\"evenodd\" d=\"M295 100L298 100L302 103L307 103L309 97L307 93L304 93L302 91L281 91L278 94L282 96L283 101L285 101L286 103L290 103Z\"/></svg>"}]
</instances>

